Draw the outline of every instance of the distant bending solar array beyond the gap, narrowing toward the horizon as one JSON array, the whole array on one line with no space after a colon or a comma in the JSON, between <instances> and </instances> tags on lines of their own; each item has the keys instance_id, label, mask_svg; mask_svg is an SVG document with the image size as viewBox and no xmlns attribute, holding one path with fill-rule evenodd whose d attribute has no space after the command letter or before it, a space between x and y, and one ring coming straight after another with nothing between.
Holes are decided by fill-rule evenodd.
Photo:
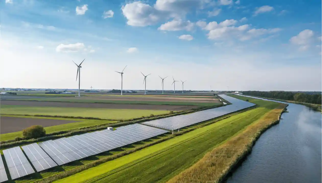
<instances>
[{"instance_id":1,"label":"distant bending solar array beyond the gap, narrowing toward the horizon","mask_svg":"<svg viewBox=\"0 0 322 183\"><path fill-rule=\"evenodd\" d=\"M210 120L225 114L229 114L235 111L239 111L255 105L253 103L246 102L231 96L227 96L227 95L219 95L219 96L229 101L232 104L225 105L223 107L217 107L213 109L198 111L191 114L178 115L178 116L172 116L168 118L143 122L142 124L163 128L163 129L168 129L168 130L175 130L175 129L179 129L185 126L207 121L207 120Z\"/></svg>"}]
</instances>

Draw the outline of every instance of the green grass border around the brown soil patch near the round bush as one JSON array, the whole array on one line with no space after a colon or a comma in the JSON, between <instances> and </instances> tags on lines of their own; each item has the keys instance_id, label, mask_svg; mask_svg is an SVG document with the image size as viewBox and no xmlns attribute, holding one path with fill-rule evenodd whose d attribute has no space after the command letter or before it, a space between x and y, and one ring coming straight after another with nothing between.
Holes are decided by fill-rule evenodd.
<instances>
[{"instance_id":1,"label":"green grass border around the brown soil patch near the round bush","mask_svg":"<svg viewBox=\"0 0 322 183\"><path fill-rule=\"evenodd\" d=\"M35 116L14 116L14 115L1 115L1 116L41 118L41 119L55 119L55 120L61 119L61 120L79 121L79 122L75 122L75 123L60 124L60 125L45 127L44 129L46 130L46 133L47 134L48 133L59 132L59 131L65 131L65 130L73 130L73 129L78 129L78 128L82 128L82 127L100 125L100 124L117 123L117 121L108 121L108 120L89 120L89 119L71 119L71 118L50 118L50 117L35 117ZM2 122L1 125L4 126L5 123ZM13 132L13 133L0 134L0 141L13 140L16 137L22 137L22 131Z\"/></svg>"}]
</instances>

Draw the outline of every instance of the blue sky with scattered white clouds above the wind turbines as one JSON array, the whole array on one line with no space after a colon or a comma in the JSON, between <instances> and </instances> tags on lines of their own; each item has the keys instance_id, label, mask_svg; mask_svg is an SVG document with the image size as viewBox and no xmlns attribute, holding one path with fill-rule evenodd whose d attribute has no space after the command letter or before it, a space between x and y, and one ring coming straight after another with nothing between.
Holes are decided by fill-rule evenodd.
<instances>
[{"instance_id":1,"label":"blue sky with scattered white clouds above the wind turbines","mask_svg":"<svg viewBox=\"0 0 322 183\"><path fill-rule=\"evenodd\" d=\"M320 0L1 0L0 87L321 91ZM176 84L177 87L181 83Z\"/></svg>"}]
</instances>

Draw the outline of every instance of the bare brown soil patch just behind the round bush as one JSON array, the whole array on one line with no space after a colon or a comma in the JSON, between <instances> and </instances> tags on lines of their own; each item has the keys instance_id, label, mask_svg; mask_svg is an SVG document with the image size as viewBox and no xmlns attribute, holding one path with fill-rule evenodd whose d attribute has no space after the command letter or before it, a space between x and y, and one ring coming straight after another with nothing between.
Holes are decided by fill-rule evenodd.
<instances>
[{"instance_id":1,"label":"bare brown soil patch just behind the round bush","mask_svg":"<svg viewBox=\"0 0 322 183\"><path fill-rule=\"evenodd\" d=\"M75 123L75 122L77 121L1 116L0 134L19 132L32 125L42 125L43 127L47 127L47 126L55 126L55 125Z\"/></svg>"}]
</instances>

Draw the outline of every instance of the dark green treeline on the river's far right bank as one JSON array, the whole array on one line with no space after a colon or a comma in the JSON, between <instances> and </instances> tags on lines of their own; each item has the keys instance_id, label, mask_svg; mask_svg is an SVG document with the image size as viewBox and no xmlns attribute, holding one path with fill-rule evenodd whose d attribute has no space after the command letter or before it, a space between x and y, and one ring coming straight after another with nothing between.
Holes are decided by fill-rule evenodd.
<instances>
[{"instance_id":1,"label":"dark green treeline on the river's far right bank","mask_svg":"<svg viewBox=\"0 0 322 183\"><path fill-rule=\"evenodd\" d=\"M293 92L283 92L283 91L269 91L269 92L261 92L261 91L243 91L245 95L251 96L260 96L267 98L275 98L280 100L290 100L296 102L305 102L310 104L320 104L322 103L321 94L305 94L305 93L293 93Z\"/></svg>"}]
</instances>

